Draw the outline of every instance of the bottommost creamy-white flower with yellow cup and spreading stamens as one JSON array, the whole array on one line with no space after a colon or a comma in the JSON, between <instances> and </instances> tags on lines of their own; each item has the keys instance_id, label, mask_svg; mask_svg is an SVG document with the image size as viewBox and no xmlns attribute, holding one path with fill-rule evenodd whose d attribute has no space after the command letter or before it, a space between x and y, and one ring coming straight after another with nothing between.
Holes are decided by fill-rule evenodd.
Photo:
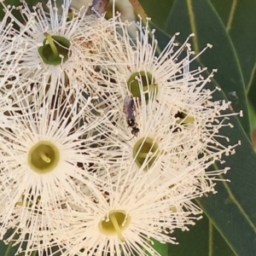
<instances>
[{"instance_id":1,"label":"bottommost creamy-white flower with yellow cup and spreading stamens","mask_svg":"<svg viewBox=\"0 0 256 256\"><path fill-rule=\"evenodd\" d=\"M201 213L198 207L184 212L184 195L166 197L166 183L151 190L153 181L148 183L147 178L134 176L131 168L119 166L119 170L125 169L131 175L124 180L123 170L117 171L115 183L106 169L109 180L90 187L94 200L85 197L84 206L67 212L63 219L69 224L65 230L67 240L56 234L67 249L62 255L160 255L151 247L152 238L176 243L170 236L172 231L194 224L196 217L191 214Z\"/></svg>"}]
</instances>

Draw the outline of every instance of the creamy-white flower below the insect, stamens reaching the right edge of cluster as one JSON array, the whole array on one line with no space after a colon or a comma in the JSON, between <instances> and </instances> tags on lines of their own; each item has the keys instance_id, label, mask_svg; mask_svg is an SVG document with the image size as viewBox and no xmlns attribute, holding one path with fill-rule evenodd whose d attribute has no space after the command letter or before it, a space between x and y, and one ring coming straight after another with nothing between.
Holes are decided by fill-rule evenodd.
<instances>
[{"instance_id":1,"label":"creamy-white flower below the insect, stamens reaching the right edge of cluster","mask_svg":"<svg viewBox=\"0 0 256 256\"><path fill-rule=\"evenodd\" d=\"M190 112L184 116L181 107L179 116L177 106L171 108L168 104L168 96L162 96L158 102L154 98L154 90L143 92L141 88L141 91L147 96L140 99L128 97L128 103L125 96L123 105L114 96L109 97L109 101L114 99L111 103L113 108L119 111L98 129L107 131L106 143L113 145L113 149L106 152L109 159L115 160L113 166L126 162L132 166L134 175L144 175L150 170L150 178L156 180L155 177L159 177L155 186L164 180L169 181L170 186L183 183L185 189L193 186L193 180L195 194L214 191L214 183L211 182L214 175L206 170L216 160L221 161L223 154L233 154L236 147L226 147L218 142L218 130L229 125L225 124L225 115L220 114L220 109L225 109L226 104L222 106L215 102L207 108L208 100L205 98L202 106L188 108ZM203 108L205 112L201 111ZM215 124L218 118L223 121ZM126 174L124 172L124 178ZM115 180L114 173L112 175ZM189 186L184 181L189 181Z\"/></svg>"}]
</instances>

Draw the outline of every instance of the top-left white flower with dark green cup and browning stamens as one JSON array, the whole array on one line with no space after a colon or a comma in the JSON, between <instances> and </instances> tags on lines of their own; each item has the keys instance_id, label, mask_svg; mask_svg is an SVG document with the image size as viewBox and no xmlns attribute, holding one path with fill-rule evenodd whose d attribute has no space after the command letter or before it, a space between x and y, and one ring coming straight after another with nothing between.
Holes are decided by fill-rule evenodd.
<instances>
[{"instance_id":1,"label":"top-left white flower with dark green cup and browning stamens","mask_svg":"<svg viewBox=\"0 0 256 256\"><path fill-rule=\"evenodd\" d=\"M84 90L94 92L97 85L96 68L101 66L102 46L99 38L108 37L113 22L103 17L85 16L69 9L71 1L64 0L59 15L56 3L47 4L48 12L38 3L31 11L26 2L20 6L24 22L5 7L10 22L19 26L12 29L11 44L15 44L15 53L9 60L17 58L17 52L24 52L16 70L20 79L32 79L40 84L46 75L49 83L49 95L55 93L56 84L63 90L72 89L73 84L84 83Z\"/></svg>"}]
</instances>

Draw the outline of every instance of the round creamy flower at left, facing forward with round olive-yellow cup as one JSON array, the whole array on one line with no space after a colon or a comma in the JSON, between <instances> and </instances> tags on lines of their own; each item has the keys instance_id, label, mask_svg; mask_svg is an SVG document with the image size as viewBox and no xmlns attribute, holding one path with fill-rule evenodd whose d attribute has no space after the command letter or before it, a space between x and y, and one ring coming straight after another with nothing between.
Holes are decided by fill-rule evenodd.
<instances>
[{"instance_id":1,"label":"round creamy flower at left, facing forward with round olive-yellow cup","mask_svg":"<svg viewBox=\"0 0 256 256\"><path fill-rule=\"evenodd\" d=\"M26 227L28 232L27 222L37 216L37 228L50 230L51 219L60 218L55 209L65 208L67 198L79 204L80 194L86 191L80 186L97 179L91 165L108 165L108 159L100 157L100 148L103 152L106 148L97 131L108 115L93 114L90 98L82 104L83 92L78 87L76 93L51 98L40 96L44 91L32 90L30 97L15 102L16 108L9 110L1 124L2 237L9 228L22 233ZM31 233L34 229L30 226Z\"/></svg>"}]
</instances>

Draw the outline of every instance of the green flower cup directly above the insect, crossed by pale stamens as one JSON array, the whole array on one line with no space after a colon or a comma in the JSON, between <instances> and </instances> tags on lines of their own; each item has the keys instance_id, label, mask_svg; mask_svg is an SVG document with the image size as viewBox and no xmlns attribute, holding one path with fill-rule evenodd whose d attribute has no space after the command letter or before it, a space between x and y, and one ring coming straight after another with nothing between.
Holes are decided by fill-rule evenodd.
<instances>
[{"instance_id":1,"label":"green flower cup directly above the insect, crossed by pale stamens","mask_svg":"<svg viewBox=\"0 0 256 256\"><path fill-rule=\"evenodd\" d=\"M132 96L141 99L143 93L146 103L148 103L149 95L152 97L152 90L154 94L153 99L150 99L150 101L154 100L157 94L157 84L151 73L143 71L132 73L130 79L127 81L127 84Z\"/></svg>"}]
</instances>

